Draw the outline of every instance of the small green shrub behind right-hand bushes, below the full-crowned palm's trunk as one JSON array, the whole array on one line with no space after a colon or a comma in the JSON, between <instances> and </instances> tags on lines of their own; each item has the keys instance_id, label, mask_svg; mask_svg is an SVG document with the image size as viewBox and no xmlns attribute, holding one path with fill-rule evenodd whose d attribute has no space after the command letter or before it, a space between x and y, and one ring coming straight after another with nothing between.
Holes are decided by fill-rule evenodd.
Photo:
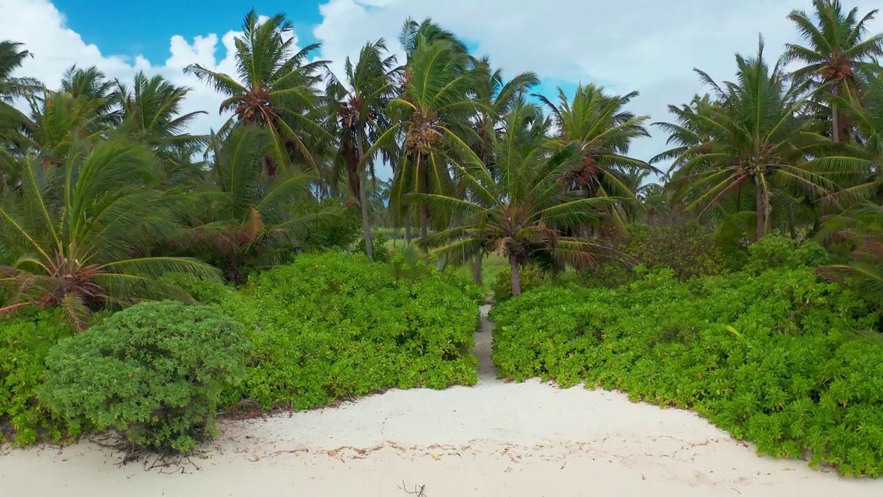
<instances>
[{"instance_id":1,"label":"small green shrub behind right-hand bushes, below the full-crowned palm's trunk","mask_svg":"<svg viewBox=\"0 0 883 497\"><path fill-rule=\"evenodd\" d=\"M830 257L825 248L815 241L803 243L781 235L768 235L748 248L745 271L759 274L768 269L816 268L827 264Z\"/></svg>"}]
</instances>

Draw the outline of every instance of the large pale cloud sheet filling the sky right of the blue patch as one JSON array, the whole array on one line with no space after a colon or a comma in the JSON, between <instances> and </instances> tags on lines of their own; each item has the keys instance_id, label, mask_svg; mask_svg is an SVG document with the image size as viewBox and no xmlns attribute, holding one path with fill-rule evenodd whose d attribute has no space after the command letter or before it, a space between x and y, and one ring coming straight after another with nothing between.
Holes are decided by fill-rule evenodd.
<instances>
[{"instance_id":1,"label":"large pale cloud sheet filling the sky right of the blue patch","mask_svg":"<svg viewBox=\"0 0 883 497\"><path fill-rule=\"evenodd\" d=\"M879 0L847 0L864 14ZM328 0L314 30L322 57L343 60L369 39L396 35L411 16L432 17L491 57L509 76L533 71L543 79L599 80L611 90L638 90L632 110L667 120L668 103L705 92L693 67L715 80L733 77L736 52L757 50L758 33L773 61L785 42L799 37L786 19L792 9L811 11L811 0ZM883 30L879 20L872 32ZM636 143L648 159L665 148L665 136Z\"/></svg>"}]
</instances>

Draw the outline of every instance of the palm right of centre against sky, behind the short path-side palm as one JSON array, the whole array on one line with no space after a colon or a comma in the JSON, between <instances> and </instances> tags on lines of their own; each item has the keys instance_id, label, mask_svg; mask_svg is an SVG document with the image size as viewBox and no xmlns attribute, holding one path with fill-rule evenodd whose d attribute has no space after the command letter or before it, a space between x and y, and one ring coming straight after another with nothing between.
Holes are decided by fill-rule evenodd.
<instances>
[{"instance_id":1,"label":"palm right of centre against sky, behind the short path-side palm","mask_svg":"<svg viewBox=\"0 0 883 497\"><path fill-rule=\"evenodd\" d=\"M645 161L627 155L633 140L650 136L644 126L650 118L625 110L636 96L638 92L608 95L595 84L579 85L572 100L558 88L557 104L538 95L555 119L558 133L553 144L561 155L558 160L577 157L564 179L567 187L587 197L611 195L634 203L636 199L625 173L658 172Z\"/></svg>"}]
</instances>

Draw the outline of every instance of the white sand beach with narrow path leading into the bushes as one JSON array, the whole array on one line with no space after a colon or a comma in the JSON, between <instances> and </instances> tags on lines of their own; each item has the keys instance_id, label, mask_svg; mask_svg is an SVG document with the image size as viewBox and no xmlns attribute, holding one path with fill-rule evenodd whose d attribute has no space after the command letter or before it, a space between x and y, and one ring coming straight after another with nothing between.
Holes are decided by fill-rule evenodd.
<instances>
[{"instance_id":1,"label":"white sand beach with narrow path leading into the bushes","mask_svg":"<svg viewBox=\"0 0 883 497\"><path fill-rule=\"evenodd\" d=\"M419 486L426 497L883 494L883 481L758 457L690 412L581 387L502 383L489 331L476 336L478 386L394 390L224 423L205 454L162 471L118 467L119 455L92 442L9 450L0 497L406 497Z\"/></svg>"}]
</instances>

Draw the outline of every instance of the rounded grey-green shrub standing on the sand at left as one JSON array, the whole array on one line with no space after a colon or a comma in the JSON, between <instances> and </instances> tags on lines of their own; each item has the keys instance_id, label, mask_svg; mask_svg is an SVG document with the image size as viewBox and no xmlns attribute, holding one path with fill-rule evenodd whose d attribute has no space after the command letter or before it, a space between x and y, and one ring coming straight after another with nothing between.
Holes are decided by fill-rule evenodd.
<instances>
[{"instance_id":1,"label":"rounded grey-green shrub standing on the sand at left","mask_svg":"<svg viewBox=\"0 0 883 497\"><path fill-rule=\"evenodd\" d=\"M73 425L188 452L215 436L215 409L248 351L242 325L211 307L140 303L52 348L40 398Z\"/></svg>"}]
</instances>

